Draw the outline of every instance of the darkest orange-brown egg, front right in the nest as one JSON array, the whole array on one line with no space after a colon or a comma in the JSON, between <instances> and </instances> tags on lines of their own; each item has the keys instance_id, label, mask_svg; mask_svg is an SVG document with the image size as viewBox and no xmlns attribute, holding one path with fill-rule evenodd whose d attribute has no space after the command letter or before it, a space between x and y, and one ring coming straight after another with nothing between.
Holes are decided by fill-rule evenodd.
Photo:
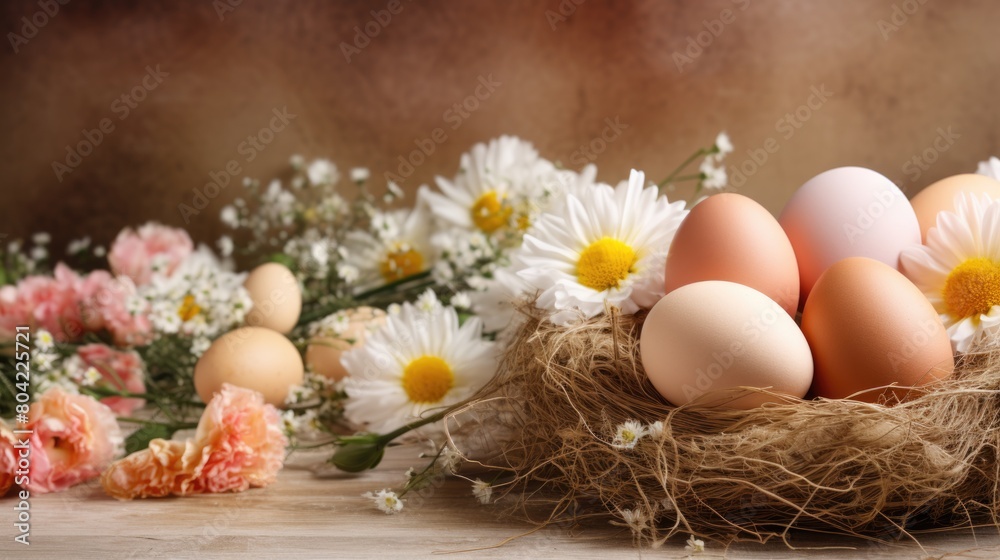
<instances>
[{"instance_id":1,"label":"darkest orange-brown egg, front right in the nest","mask_svg":"<svg viewBox=\"0 0 1000 560\"><path fill-rule=\"evenodd\" d=\"M812 349L812 392L888 404L952 374L951 341L934 307L894 268L851 257L817 280L802 311ZM892 383L900 389L868 391Z\"/></svg>"}]
</instances>

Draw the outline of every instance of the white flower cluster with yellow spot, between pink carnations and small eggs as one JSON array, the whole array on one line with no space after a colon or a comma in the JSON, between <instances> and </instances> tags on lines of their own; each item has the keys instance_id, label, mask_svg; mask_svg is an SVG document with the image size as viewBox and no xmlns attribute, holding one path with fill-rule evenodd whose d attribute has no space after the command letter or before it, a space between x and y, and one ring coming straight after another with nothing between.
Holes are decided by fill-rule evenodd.
<instances>
[{"instance_id":1,"label":"white flower cluster with yellow spot, between pink carnations and small eggs","mask_svg":"<svg viewBox=\"0 0 1000 560\"><path fill-rule=\"evenodd\" d=\"M192 253L173 274L155 274L139 288L133 306L145 304L149 320L160 335L193 339L192 352L200 356L215 337L243 323L253 307L243 287L246 274L226 270L205 247Z\"/></svg>"}]
</instances>

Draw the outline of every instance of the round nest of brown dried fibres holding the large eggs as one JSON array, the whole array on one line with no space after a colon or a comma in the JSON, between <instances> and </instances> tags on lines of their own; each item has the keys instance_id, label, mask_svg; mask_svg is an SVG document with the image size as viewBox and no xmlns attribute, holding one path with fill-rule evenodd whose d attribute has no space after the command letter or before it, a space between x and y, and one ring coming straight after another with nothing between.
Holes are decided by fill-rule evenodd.
<instances>
[{"instance_id":1,"label":"round nest of brown dried fibres holding the large eggs","mask_svg":"<svg viewBox=\"0 0 1000 560\"><path fill-rule=\"evenodd\" d=\"M997 524L1000 351L966 355L952 379L891 407L675 407L643 371L641 315L560 327L522 311L497 377L465 410L505 428L484 463L500 471L494 495L512 512L610 521L653 545L675 534L788 543L792 530L894 540ZM615 440L628 421L662 425L628 448Z\"/></svg>"}]
</instances>

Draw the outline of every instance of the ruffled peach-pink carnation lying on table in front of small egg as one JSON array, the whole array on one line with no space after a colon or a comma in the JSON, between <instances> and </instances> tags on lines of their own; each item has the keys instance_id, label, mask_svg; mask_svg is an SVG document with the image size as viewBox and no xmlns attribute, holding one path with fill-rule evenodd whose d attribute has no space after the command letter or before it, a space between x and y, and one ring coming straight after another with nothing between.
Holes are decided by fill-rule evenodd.
<instances>
[{"instance_id":1,"label":"ruffled peach-pink carnation lying on table in front of small egg","mask_svg":"<svg viewBox=\"0 0 1000 560\"><path fill-rule=\"evenodd\" d=\"M153 440L111 465L101 484L120 500L242 492L274 482L287 445L278 410L260 393L227 384L208 403L194 439Z\"/></svg>"}]
</instances>

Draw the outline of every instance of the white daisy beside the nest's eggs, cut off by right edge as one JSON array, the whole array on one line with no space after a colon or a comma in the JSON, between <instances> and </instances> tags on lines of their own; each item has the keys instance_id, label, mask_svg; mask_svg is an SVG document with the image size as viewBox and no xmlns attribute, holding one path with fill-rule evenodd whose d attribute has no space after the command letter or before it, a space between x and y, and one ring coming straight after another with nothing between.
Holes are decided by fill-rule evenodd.
<instances>
[{"instance_id":1,"label":"white daisy beside the nest's eggs, cut off by right edge","mask_svg":"<svg viewBox=\"0 0 1000 560\"><path fill-rule=\"evenodd\" d=\"M956 351L1000 334L1000 200L959 194L955 212L939 213L926 244L904 250L900 263L934 304Z\"/></svg>"}]
</instances>

